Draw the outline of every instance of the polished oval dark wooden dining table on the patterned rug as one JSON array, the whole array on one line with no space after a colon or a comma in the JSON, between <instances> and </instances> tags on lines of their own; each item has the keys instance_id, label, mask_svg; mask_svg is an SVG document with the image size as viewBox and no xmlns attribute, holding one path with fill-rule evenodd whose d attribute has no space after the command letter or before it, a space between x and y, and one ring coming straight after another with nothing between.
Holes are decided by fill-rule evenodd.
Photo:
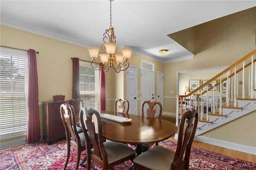
<instances>
[{"instance_id":1,"label":"polished oval dark wooden dining table on the patterned rug","mask_svg":"<svg viewBox=\"0 0 256 170\"><path fill-rule=\"evenodd\" d=\"M137 155L143 152L142 144L164 141L172 137L178 130L178 127L174 123L162 119L114 111L98 112L100 114L110 114L132 119L130 123L120 123L101 118L102 136L110 141L135 145ZM76 124L81 127L79 114L76 114Z\"/></svg>"}]
</instances>

